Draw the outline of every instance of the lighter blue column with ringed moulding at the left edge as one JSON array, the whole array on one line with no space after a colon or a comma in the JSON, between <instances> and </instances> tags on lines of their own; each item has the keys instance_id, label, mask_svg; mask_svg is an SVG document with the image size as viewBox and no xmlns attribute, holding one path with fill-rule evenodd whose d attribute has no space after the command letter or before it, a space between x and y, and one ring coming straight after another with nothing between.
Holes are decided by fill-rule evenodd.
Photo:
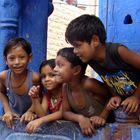
<instances>
[{"instance_id":1,"label":"lighter blue column with ringed moulding at the left edge","mask_svg":"<svg viewBox=\"0 0 140 140\"><path fill-rule=\"evenodd\" d=\"M5 67L3 48L5 43L18 35L20 0L0 0L0 70Z\"/></svg>"}]
</instances>

